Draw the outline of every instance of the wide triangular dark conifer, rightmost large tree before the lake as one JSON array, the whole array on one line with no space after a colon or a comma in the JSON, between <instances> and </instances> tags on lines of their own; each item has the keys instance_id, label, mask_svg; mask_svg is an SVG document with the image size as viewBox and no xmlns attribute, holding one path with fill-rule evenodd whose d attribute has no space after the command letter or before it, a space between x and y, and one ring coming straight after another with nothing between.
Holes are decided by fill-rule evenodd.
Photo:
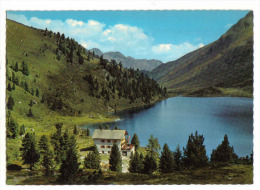
<instances>
[{"instance_id":1,"label":"wide triangular dark conifer, rightmost large tree before the lake","mask_svg":"<svg viewBox=\"0 0 260 190\"><path fill-rule=\"evenodd\" d=\"M228 136L224 136L224 140L212 151L211 162L224 162L231 163L238 159L238 156L234 153L234 148L229 145Z\"/></svg>"}]
</instances>

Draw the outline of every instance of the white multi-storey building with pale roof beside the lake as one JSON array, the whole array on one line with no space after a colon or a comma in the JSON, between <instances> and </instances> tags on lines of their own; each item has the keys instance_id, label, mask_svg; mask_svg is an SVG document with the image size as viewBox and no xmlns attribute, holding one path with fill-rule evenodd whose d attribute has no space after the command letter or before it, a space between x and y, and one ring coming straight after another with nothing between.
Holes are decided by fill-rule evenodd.
<instances>
[{"instance_id":1,"label":"white multi-storey building with pale roof beside the lake","mask_svg":"<svg viewBox=\"0 0 260 190\"><path fill-rule=\"evenodd\" d=\"M92 139L99 153L110 154L113 144L116 143L123 156L130 156L132 152L135 153L135 146L128 144L126 135L126 130L95 129Z\"/></svg>"}]
</instances>

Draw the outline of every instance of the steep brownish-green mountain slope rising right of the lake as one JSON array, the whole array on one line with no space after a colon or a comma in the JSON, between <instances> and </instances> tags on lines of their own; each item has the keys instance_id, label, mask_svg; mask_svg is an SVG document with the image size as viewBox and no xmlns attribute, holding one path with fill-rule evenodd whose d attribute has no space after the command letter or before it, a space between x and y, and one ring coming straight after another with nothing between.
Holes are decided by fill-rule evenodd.
<instances>
[{"instance_id":1,"label":"steep brownish-green mountain slope rising right of the lake","mask_svg":"<svg viewBox=\"0 0 260 190\"><path fill-rule=\"evenodd\" d=\"M217 41L176 61L162 64L151 74L175 94L214 96L208 93L208 88L217 88L221 91L215 94L217 96L252 97L253 12Z\"/></svg>"}]
</instances>

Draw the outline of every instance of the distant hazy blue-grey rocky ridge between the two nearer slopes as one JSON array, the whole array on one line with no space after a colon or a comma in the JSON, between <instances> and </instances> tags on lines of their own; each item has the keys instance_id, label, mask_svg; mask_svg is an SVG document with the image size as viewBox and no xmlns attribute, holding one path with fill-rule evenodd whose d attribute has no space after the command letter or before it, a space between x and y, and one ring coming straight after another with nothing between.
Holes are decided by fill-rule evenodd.
<instances>
[{"instance_id":1,"label":"distant hazy blue-grey rocky ridge between the two nearer slopes","mask_svg":"<svg viewBox=\"0 0 260 190\"><path fill-rule=\"evenodd\" d=\"M134 69L151 71L163 63L160 60L156 60L156 59L148 60L148 59L135 59L130 56L126 57L118 51L116 52L110 51L110 52L102 53L102 51L98 48L90 49L90 51L94 52L98 56L103 54L104 59L108 59L108 60L114 59L118 63L121 62L123 67L125 68L131 67Z\"/></svg>"}]
</instances>

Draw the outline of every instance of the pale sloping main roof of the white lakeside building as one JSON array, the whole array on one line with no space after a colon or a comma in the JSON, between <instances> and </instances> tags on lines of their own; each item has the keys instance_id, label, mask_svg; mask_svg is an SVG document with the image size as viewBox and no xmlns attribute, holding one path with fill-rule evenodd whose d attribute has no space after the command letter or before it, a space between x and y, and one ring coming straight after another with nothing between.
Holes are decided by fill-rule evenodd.
<instances>
[{"instance_id":1,"label":"pale sloping main roof of the white lakeside building","mask_svg":"<svg viewBox=\"0 0 260 190\"><path fill-rule=\"evenodd\" d=\"M123 139L125 135L126 130L95 129L92 139Z\"/></svg>"}]
</instances>

